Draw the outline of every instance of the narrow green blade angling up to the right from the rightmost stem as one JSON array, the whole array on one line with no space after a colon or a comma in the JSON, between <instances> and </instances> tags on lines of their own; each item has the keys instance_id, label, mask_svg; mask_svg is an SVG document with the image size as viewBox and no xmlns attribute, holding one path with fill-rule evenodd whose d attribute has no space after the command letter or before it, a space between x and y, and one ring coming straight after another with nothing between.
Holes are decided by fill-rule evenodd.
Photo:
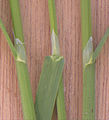
<instances>
[{"instance_id":1,"label":"narrow green blade angling up to the right from the rightmost stem","mask_svg":"<svg viewBox=\"0 0 109 120\"><path fill-rule=\"evenodd\" d=\"M97 48L95 49L95 51L93 53L93 61L95 61L96 58L98 57L98 55L99 55L104 43L106 42L108 36L109 36L109 28L105 32L103 38L100 40L100 43L98 44Z\"/></svg>"}]
</instances>

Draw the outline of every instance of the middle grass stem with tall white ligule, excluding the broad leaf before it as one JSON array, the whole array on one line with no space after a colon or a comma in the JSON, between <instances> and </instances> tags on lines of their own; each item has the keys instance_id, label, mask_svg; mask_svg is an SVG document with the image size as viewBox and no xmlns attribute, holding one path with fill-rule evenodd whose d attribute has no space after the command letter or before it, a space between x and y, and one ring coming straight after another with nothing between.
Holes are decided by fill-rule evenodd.
<instances>
[{"instance_id":1,"label":"middle grass stem with tall white ligule, excluding the broad leaf before it","mask_svg":"<svg viewBox=\"0 0 109 120\"><path fill-rule=\"evenodd\" d=\"M60 55L58 30L57 30L57 18L55 10L55 0L48 0L51 40L52 40L52 55ZM66 110L64 101L64 85L61 79L58 96L57 96L57 113L58 120L66 120ZM63 86L63 87L62 87Z\"/></svg>"}]
</instances>

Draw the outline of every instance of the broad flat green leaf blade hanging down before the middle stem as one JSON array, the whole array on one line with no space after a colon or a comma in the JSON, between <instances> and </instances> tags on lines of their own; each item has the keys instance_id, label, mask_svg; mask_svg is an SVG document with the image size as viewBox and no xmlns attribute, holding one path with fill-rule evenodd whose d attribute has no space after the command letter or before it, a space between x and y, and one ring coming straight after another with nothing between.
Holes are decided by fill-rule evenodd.
<instances>
[{"instance_id":1,"label":"broad flat green leaf blade hanging down before the middle stem","mask_svg":"<svg viewBox=\"0 0 109 120\"><path fill-rule=\"evenodd\" d=\"M64 66L63 57L47 56L36 95L37 120L51 120Z\"/></svg>"}]
</instances>

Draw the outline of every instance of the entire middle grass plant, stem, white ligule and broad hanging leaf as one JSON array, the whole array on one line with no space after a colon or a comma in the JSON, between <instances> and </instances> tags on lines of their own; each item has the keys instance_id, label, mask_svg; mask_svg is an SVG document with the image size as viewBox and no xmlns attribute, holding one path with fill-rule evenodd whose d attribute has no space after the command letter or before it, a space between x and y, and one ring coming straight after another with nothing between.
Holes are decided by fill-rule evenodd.
<instances>
[{"instance_id":1,"label":"entire middle grass plant, stem, white ligule and broad hanging leaf","mask_svg":"<svg viewBox=\"0 0 109 120\"><path fill-rule=\"evenodd\" d=\"M38 120L51 120L56 102L58 120L66 120L64 87L62 81L63 57L60 56L55 1L48 0L48 6L52 55L45 58L36 95L35 108ZM45 87L43 87L44 85Z\"/></svg>"}]
</instances>

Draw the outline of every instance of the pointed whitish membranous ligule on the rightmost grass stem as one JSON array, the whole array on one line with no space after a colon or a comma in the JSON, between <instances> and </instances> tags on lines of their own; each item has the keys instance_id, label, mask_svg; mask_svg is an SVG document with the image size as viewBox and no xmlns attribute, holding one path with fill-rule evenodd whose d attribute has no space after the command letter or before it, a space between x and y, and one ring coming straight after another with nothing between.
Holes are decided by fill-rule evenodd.
<instances>
[{"instance_id":1,"label":"pointed whitish membranous ligule on the rightmost grass stem","mask_svg":"<svg viewBox=\"0 0 109 120\"><path fill-rule=\"evenodd\" d=\"M93 38L89 38L84 50L83 50L83 68L93 63Z\"/></svg>"}]
</instances>

